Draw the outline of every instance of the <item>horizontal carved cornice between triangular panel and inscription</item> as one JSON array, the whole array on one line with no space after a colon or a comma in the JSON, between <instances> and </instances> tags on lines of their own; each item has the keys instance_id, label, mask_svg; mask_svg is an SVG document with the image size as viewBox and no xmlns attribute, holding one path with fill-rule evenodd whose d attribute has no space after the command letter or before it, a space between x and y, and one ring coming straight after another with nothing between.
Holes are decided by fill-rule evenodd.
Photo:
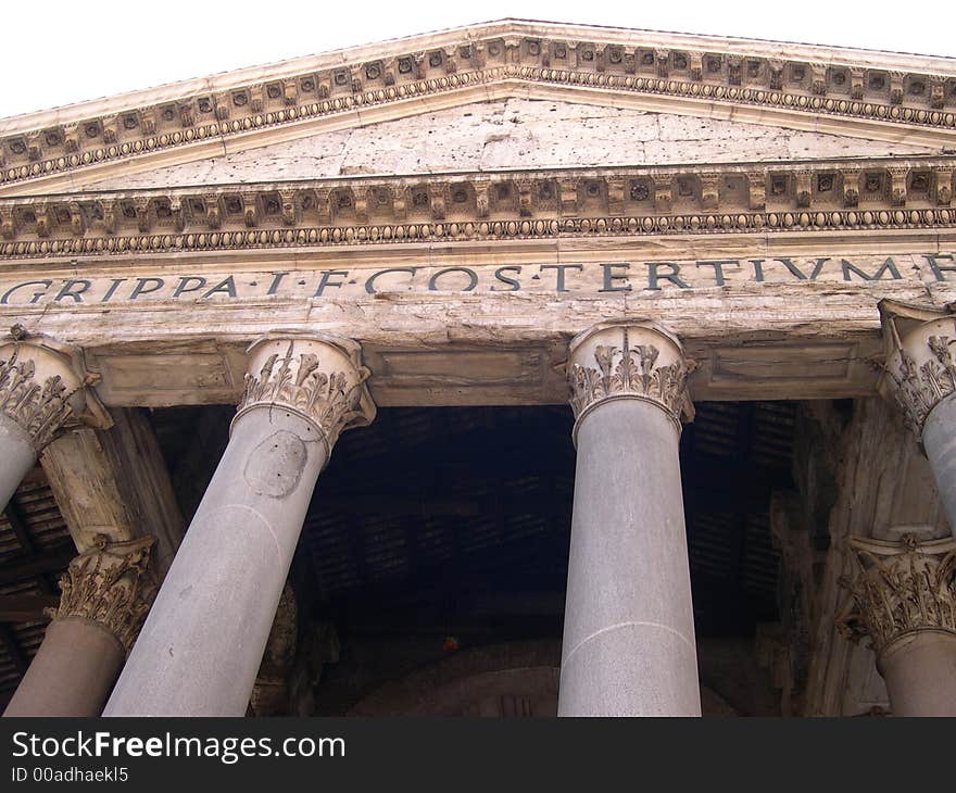
<instances>
[{"instance_id":1,"label":"horizontal carved cornice between triangular panel and inscription","mask_svg":"<svg viewBox=\"0 0 956 793\"><path fill-rule=\"evenodd\" d=\"M0 259L674 235L952 234L956 156L218 185L0 199Z\"/></svg>"}]
</instances>

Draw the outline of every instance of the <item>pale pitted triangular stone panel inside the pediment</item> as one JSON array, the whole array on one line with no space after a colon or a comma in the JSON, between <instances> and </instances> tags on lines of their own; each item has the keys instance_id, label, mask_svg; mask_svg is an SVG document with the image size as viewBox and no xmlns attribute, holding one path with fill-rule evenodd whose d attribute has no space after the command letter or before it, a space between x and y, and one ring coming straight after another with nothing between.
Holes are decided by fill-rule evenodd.
<instances>
[{"instance_id":1,"label":"pale pitted triangular stone panel inside the pediment","mask_svg":"<svg viewBox=\"0 0 956 793\"><path fill-rule=\"evenodd\" d=\"M92 182L88 189L935 153L927 146L765 124L573 102L502 99L123 175Z\"/></svg>"}]
</instances>

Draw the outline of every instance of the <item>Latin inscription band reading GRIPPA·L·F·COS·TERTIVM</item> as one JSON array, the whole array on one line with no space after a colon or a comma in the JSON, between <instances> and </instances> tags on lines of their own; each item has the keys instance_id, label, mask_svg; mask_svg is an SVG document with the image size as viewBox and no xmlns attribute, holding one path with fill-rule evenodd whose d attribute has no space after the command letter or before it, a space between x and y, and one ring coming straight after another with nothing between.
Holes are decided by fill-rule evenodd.
<instances>
[{"instance_id":1,"label":"Latin inscription band reading GRIPPA\u00b7L\u00b7F\u00b7COS\u00b7TERTIVM","mask_svg":"<svg viewBox=\"0 0 956 793\"><path fill-rule=\"evenodd\" d=\"M814 281L956 281L956 254L813 259L714 259L505 266L335 267L265 273L137 273L123 277L39 277L0 282L0 305L362 298L382 293L645 293Z\"/></svg>"}]
</instances>

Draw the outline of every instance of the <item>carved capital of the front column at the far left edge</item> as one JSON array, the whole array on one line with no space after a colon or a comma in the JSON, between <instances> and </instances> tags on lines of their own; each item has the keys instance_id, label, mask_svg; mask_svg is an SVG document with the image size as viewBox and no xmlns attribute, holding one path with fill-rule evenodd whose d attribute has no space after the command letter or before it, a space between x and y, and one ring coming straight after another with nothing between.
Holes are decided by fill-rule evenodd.
<instances>
[{"instance_id":1,"label":"carved capital of the front column at the far left edge","mask_svg":"<svg viewBox=\"0 0 956 793\"><path fill-rule=\"evenodd\" d=\"M90 386L96 377L79 350L20 325L0 338L0 413L13 419L40 452L72 420L109 427Z\"/></svg>"}]
</instances>

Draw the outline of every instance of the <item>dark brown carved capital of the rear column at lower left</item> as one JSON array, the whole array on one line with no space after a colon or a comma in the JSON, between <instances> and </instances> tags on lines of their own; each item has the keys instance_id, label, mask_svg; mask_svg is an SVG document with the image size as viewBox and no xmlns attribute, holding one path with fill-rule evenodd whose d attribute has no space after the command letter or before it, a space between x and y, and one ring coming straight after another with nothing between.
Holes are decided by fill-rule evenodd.
<instances>
[{"instance_id":1,"label":"dark brown carved capital of the rear column at lower left","mask_svg":"<svg viewBox=\"0 0 956 793\"><path fill-rule=\"evenodd\" d=\"M99 622L128 653L154 594L147 568L155 538L114 542L105 534L81 553L60 579L60 605L52 619L79 617Z\"/></svg>"}]
</instances>

